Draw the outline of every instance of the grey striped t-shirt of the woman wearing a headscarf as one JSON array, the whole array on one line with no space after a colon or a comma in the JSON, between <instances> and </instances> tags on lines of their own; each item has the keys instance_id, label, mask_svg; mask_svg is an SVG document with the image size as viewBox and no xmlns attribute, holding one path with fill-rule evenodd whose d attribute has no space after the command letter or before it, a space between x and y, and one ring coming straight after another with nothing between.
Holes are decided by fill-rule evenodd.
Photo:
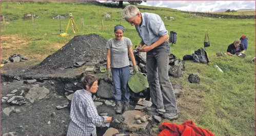
<instances>
[{"instance_id":1,"label":"grey striped t-shirt of the woman wearing a headscarf","mask_svg":"<svg viewBox=\"0 0 256 136\"><path fill-rule=\"evenodd\" d=\"M123 37L120 41L114 38L108 40L106 47L111 50L111 67L121 68L130 65L128 48L131 46L131 40L127 37Z\"/></svg>"}]
</instances>

